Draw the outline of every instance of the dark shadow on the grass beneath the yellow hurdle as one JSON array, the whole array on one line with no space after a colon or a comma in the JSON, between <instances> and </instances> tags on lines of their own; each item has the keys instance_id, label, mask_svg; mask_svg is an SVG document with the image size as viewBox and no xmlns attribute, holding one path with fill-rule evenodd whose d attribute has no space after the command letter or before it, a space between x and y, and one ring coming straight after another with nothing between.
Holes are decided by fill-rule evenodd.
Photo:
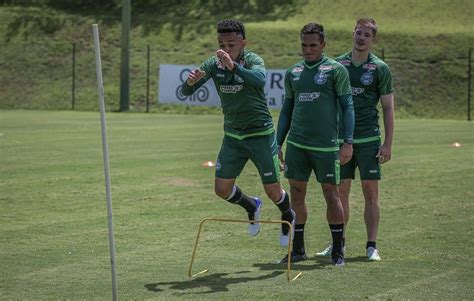
<instances>
[{"instance_id":1,"label":"dark shadow on the grass beneath the yellow hurdle","mask_svg":"<svg viewBox=\"0 0 474 301\"><path fill-rule=\"evenodd\" d=\"M208 288L207 291L192 292L192 294L211 294L211 293L218 293L218 292L227 292L229 291L229 288L227 286L231 284L270 279L270 278L278 277L282 275L284 272L273 271L270 274L261 275L257 277L232 276L236 274L245 274L245 273L250 273L250 271L241 271L241 272L236 272L236 273L215 273L215 274L210 274L203 277L190 278L190 280L185 280L185 281L149 283L149 284L145 284L145 288L149 291L158 293L158 292L163 292L165 290L164 287L168 287L168 289L170 290L181 291L180 292L181 294L186 294L183 292L185 290ZM227 277L227 276L230 276L230 277Z\"/></svg>"}]
</instances>

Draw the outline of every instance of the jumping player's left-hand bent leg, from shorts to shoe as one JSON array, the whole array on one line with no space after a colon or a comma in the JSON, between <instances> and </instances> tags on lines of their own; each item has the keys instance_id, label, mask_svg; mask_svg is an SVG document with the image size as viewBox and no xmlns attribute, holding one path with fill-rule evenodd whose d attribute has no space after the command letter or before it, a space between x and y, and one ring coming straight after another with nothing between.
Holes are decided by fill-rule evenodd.
<instances>
[{"instance_id":1,"label":"jumping player's left-hand bent leg, from shorts to shoe","mask_svg":"<svg viewBox=\"0 0 474 301\"><path fill-rule=\"evenodd\" d=\"M214 191L217 196L229 203L243 207L249 220L255 220L255 215L259 216L260 214L261 201L248 196L235 185L235 179L242 172L247 160L248 157L242 151L239 141L225 136L216 161ZM257 235L259 231L260 225L258 223L249 224L250 235Z\"/></svg>"}]
</instances>

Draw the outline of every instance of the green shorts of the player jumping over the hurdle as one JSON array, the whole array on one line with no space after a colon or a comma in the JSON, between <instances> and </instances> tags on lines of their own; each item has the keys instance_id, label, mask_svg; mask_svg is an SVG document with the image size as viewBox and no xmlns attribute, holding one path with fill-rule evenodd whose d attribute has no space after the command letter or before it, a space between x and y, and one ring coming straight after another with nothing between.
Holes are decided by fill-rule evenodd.
<instances>
[{"instance_id":1,"label":"green shorts of the player jumping over the hurdle","mask_svg":"<svg viewBox=\"0 0 474 301\"><path fill-rule=\"evenodd\" d=\"M274 132L242 140L224 136L216 161L216 177L237 178L249 159L257 167L263 184L280 181L278 147Z\"/></svg>"}]
</instances>

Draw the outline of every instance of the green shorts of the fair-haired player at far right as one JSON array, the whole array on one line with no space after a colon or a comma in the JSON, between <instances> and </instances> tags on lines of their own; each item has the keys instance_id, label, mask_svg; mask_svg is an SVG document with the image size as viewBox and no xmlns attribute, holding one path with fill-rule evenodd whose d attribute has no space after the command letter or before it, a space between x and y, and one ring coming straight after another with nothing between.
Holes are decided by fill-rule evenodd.
<instances>
[{"instance_id":1,"label":"green shorts of the fair-haired player at far right","mask_svg":"<svg viewBox=\"0 0 474 301\"><path fill-rule=\"evenodd\" d=\"M341 165L341 179L354 179L355 170L359 168L361 180L380 180L379 159L375 156L380 149L380 142L352 145L352 159Z\"/></svg>"}]
</instances>

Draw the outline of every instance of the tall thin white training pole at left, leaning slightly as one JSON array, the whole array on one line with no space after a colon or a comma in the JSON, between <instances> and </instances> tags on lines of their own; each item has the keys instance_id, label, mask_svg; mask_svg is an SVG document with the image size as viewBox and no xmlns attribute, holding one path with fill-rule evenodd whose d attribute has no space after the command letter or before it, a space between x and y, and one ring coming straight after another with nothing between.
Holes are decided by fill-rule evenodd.
<instances>
[{"instance_id":1,"label":"tall thin white training pole at left, leaning slightly","mask_svg":"<svg viewBox=\"0 0 474 301\"><path fill-rule=\"evenodd\" d=\"M114 242L114 224L112 216L112 195L110 193L110 175L109 175L109 147L107 146L107 129L105 122L105 104L104 104L104 84L102 82L102 64L100 59L99 28L97 24L92 25L94 35L95 50L95 68L97 73L97 88L99 90L100 124L102 128L102 153L104 157L105 174L105 194L107 197L107 215L109 220L109 251L110 264L112 266L112 300L118 300L117 297L117 272L115 270L115 242Z\"/></svg>"}]
</instances>

